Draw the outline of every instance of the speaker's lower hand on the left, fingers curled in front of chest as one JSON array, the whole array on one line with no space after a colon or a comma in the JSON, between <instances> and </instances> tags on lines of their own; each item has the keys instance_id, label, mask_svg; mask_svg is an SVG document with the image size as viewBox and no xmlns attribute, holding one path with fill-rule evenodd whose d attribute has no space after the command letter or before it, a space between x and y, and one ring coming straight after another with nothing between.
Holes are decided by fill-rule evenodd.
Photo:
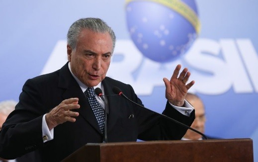
<instances>
[{"instance_id":1,"label":"speaker's lower hand on the left, fingers curled in front of chest","mask_svg":"<svg viewBox=\"0 0 258 162\"><path fill-rule=\"evenodd\" d=\"M76 119L74 117L79 116L79 112L74 112L70 110L80 108L78 101L79 98L65 99L58 106L56 106L49 113L47 113L46 123L49 130L67 121L75 122Z\"/></svg>"}]
</instances>

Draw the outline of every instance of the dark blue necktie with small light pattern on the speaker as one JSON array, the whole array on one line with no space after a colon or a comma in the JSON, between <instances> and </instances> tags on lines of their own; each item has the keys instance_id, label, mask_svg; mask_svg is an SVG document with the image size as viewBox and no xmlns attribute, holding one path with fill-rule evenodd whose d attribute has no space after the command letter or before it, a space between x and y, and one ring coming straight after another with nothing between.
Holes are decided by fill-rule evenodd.
<instances>
[{"instance_id":1,"label":"dark blue necktie with small light pattern on the speaker","mask_svg":"<svg viewBox=\"0 0 258 162\"><path fill-rule=\"evenodd\" d=\"M105 110L103 109L103 107L97 101L96 96L95 96L95 90L94 90L93 87L87 88L84 93L85 93L85 95L88 99L88 102L90 104L90 107L92 108L93 113L96 117L97 124L98 124L98 127L100 129L100 132L103 134L104 123L105 123L105 120L104 120Z\"/></svg>"}]
</instances>

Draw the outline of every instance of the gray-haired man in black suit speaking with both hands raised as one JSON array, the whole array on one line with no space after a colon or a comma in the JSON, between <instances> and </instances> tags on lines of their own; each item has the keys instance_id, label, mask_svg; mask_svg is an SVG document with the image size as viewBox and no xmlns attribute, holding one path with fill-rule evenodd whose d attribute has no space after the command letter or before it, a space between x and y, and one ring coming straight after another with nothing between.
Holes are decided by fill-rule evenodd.
<instances>
[{"instance_id":1,"label":"gray-haired man in black suit speaking with both hands raised","mask_svg":"<svg viewBox=\"0 0 258 162\"><path fill-rule=\"evenodd\" d=\"M117 86L143 105L131 85L106 77L115 35L105 22L80 19L72 24L67 37L68 63L25 82L17 106L0 132L0 157L14 159L35 151L44 162L58 162L87 143L102 143L104 132L84 93L90 87L109 95L107 104L96 97L98 104L109 110L108 142L181 139L185 128L112 95ZM194 81L186 83L190 73L184 68L179 74L180 68L176 66L170 81L164 78L168 102L163 114L190 126L194 109L184 97Z\"/></svg>"}]
</instances>

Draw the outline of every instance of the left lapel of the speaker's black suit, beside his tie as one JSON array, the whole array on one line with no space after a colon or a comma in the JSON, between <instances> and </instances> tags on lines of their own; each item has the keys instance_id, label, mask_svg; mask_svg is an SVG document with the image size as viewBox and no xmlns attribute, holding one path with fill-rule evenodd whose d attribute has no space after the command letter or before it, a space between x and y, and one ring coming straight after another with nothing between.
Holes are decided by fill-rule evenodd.
<instances>
[{"instance_id":1,"label":"left lapel of the speaker's black suit, beside his tie","mask_svg":"<svg viewBox=\"0 0 258 162\"><path fill-rule=\"evenodd\" d=\"M78 97L80 108L75 109L78 111L79 114L100 134L99 127L97 125L96 118L93 114L93 111L86 99L84 92L82 91L81 87L77 83L77 81L72 76L71 72L68 68L68 63L60 69L60 76L59 76L59 87L66 89L63 93L64 99Z\"/></svg>"}]
</instances>

